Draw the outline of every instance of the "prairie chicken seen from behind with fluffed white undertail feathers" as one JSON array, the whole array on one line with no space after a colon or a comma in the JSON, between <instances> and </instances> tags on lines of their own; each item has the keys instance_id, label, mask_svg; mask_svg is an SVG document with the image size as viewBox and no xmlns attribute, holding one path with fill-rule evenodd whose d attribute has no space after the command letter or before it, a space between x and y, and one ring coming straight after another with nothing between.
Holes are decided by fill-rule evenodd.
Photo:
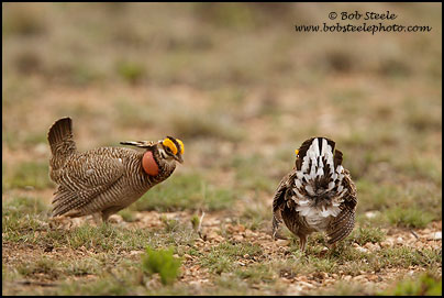
<instances>
[{"instance_id":1,"label":"prairie chicken seen from behind with fluffed white undertail feathers","mask_svg":"<svg viewBox=\"0 0 444 298\"><path fill-rule=\"evenodd\" d=\"M306 250L307 236L326 232L329 244L355 224L356 187L342 166L342 152L326 137L311 137L296 151L296 166L280 181L273 201L273 236L284 219Z\"/></svg>"}]
</instances>

